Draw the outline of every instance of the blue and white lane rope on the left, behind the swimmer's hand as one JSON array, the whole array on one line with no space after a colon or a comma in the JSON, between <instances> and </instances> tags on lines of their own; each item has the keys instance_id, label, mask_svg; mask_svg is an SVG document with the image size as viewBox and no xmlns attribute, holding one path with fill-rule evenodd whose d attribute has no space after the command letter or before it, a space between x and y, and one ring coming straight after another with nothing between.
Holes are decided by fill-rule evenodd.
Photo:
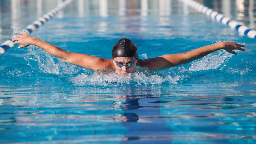
<instances>
[{"instance_id":1,"label":"blue and white lane rope on the left, behind the swimmer's hand","mask_svg":"<svg viewBox=\"0 0 256 144\"><path fill-rule=\"evenodd\" d=\"M54 17L58 12L60 12L60 10L65 8L72 1L74 1L74 0L66 0L66 1L60 3L58 6L56 6L54 9L52 9L50 12L47 12L45 15L43 15L38 20L34 21L32 24L28 25L22 31L24 33L27 33L27 34L32 33L34 30L36 30L36 28L39 28L40 26L42 26L46 21L48 21L52 17ZM12 41L13 38L15 38L15 37L13 36L9 40L7 40L3 44L1 44L1 46L0 46L0 56L1 56L2 53L6 52L8 49L13 47L13 45L12 45L14 43L14 41Z\"/></svg>"}]
</instances>

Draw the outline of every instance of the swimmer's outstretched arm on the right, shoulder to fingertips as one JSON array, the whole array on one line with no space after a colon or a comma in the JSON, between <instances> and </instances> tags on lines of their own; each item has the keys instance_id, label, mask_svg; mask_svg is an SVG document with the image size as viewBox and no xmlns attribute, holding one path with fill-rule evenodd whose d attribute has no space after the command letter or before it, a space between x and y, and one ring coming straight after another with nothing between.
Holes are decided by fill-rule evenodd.
<instances>
[{"instance_id":1,"label":"swimmer's outstretched arm on the right, shoulder to fingertips","mask_svg":"<svg viewBox=\"0 0 256 144\"><path fill-rule=\"evenodd\" d=\"M147 67L152 70L160 70L165 68L170 68L185 63L189 63L193 60L200 59L207 54L215 52L217 50L224 49L229 53L235 54L234 50L245 51L242 47L245 45L237 44L236 42L218 42L215 44L207 45L204 47L197 48L195 50L178 53L178 54L167 54L160 57L149 58L145 60L140 60L139 64L142 67Z\"/></svg>"}]
</instances>

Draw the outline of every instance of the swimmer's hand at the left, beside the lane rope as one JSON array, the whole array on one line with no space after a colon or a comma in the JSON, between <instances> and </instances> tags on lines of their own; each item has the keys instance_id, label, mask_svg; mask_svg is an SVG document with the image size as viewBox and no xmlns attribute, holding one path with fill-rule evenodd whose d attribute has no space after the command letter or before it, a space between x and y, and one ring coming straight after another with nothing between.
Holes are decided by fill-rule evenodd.
<instances>
[{"instance_id":1,"label":"swimmer's hand at the left, beside the lane rope","mask_svg":"<svg viewBox=\"0 0 256 144\"><path fill-rule=\"evenodd\" d=\"M30 44L33 44L35 39L35 37L31 37L25 33L20 33L20 35L15 35L15 38L12 39L12 41L15 41L12 45L21 44L18 48L27 47Z\"/></svg>"}]
</instances>

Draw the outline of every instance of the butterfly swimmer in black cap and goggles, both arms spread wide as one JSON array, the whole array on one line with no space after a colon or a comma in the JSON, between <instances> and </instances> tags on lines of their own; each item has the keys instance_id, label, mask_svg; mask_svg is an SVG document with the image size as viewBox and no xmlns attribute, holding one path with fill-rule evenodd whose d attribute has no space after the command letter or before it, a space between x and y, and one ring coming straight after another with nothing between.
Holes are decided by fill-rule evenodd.
<instances>
[{"instance_id":1,"label":"butterfly swimmer in black cap and goggles, both arms spread wide","mask_svg":"<svg viewBox=\"0 0 256 144\"><path fill-rule=\"evenodd\" d=\"M25 33L15 35L15 38L13 38L12 41L15 41L13 45L21 44L18 48L27 47L32 44L65 62L75 64L87 69L92 69L94 71L99 69L103 70L104 68L108 67L115 69L117 74L134 73L136 66L140 66L142 68L146 67L150 70L171 68L200 59L212 52L221 49L235 55L236 52L234 50L245 51L245 49L242 48L245 46L243 44L237 44L236 42L230 41L220 41L218 43L200 47L189 52L166 54L160 57L142 60L138 59L136 45L131 40L123 38L116 42L116 44L113 46L112 59L108 60L87 54L67 52L53 44L39 40L36 37L31 37Z\"/></svg>"}]
</instances>

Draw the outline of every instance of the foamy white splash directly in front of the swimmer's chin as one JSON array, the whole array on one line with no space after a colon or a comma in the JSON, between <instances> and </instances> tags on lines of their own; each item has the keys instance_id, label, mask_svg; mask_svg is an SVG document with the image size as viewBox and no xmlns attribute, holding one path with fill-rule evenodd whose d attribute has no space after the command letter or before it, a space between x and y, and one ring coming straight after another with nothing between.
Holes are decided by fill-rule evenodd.
<instances>
[{"instance_id":1,"label":"foamy white splash directly in front of the swimmer's chin","mask_svg":"<svg viewBox=\"0 0 256 144\"><path fill-rule=\"evenodd\" d=\"M177 84L182 79L180 75L164 75L161 71L150 72L148 69L137 68L136 72L128 75L118 75L114 72L105 73L108 68L91 75L80 74L70 79L79 86L124 86L124 85L159 85Z\"/></svg>"}]
</instances>

